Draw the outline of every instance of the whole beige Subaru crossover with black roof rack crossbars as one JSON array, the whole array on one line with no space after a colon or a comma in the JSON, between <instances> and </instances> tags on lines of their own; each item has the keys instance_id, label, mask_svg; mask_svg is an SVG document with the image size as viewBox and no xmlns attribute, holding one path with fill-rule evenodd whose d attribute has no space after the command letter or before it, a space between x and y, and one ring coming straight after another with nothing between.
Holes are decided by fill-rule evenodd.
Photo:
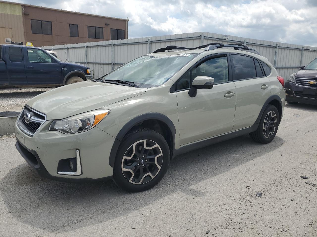
<instances>
[{"instance_id":1,"label":"whole beige Subaru crossover with black roof rack crossbars","mask_svg":"<svg viewBox=\"0 0 317 237\"><path fill-rule=\"evenodd\" d=\"M181 153L248 133L271 142L283 84L244 45L167 46L31 99L16 121L16 148L45 178L113 178L127 191L144 191Z\"/></svg>"}]
</instances>

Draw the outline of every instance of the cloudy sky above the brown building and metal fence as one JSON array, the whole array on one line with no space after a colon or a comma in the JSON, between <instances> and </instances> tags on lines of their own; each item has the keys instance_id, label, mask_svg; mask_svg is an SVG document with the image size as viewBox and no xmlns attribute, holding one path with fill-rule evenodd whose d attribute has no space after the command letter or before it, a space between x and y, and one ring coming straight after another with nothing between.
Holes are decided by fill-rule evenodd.
<instances>
[{"instance_id":1,"label":"cloudy sky above the brown building and metal fence","mask_svg":"<svg viewBox=\"0 0 317 237\"><path fill-rule=\"evenodd\" d=\"M15 0L129 17L129 38L207 31L317 46L317 0ZM88 4L87 4L88 3Z\"/></svg>"}]
</instances>

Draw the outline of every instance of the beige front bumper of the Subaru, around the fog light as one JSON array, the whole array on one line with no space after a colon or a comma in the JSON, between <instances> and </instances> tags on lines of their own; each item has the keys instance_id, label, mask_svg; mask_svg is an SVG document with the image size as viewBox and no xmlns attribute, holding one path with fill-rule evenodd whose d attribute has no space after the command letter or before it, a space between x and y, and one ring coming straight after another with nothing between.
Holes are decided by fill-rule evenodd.
<instances>
[{"instance_id":1,"label":"beige front bumper of the Subaru, around the fog light","mask_svg":"<svg viewBox=\"0 0 317 237\"><path fill-rule=\"evenodd\" d=\"M33 137L15 125L16 149L29 165L45 178L59 181L108 179L113 175L109 155L115 138L97 127L77 134L49 131L51 121L46 121ZM76 157L80 151L81 174L58 172L60 160Z\"/></svg>"}]
</instances>

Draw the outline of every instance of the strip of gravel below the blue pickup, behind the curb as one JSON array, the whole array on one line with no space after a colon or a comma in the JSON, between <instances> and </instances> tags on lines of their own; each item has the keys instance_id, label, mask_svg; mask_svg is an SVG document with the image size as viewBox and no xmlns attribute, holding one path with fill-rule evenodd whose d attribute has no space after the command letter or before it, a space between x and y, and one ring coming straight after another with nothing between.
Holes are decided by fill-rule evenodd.
<instances>
[{"instance_id":1,"label":"strip of gravel below the blue pickup, behind the curb","mask_svg":"<svg viewBox=\"0 0 317 237\"><path fill-rule=\"evenodd\" d=\"M0 88L0 111L22 109L34 96L51 89L53 88Z\"/></svg>"}]
</instances>

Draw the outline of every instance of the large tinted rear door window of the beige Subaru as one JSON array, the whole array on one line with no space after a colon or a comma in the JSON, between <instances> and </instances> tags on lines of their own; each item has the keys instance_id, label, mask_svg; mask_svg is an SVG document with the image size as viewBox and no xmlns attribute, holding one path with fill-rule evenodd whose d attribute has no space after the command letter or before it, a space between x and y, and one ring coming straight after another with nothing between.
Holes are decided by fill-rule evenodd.
<instances>
[{"instance_id":1,"label":"large tinted rear door window of the beige Subaru","mask_svg":"<svg viewBox=\"0 0 317 237\"><path fill-rule=\"evenodd\" d=\"M230 57L233 61L236 81L256 77L256 67L253 58L237 54L232 54Z\"/></svg>"}]
</instances>

